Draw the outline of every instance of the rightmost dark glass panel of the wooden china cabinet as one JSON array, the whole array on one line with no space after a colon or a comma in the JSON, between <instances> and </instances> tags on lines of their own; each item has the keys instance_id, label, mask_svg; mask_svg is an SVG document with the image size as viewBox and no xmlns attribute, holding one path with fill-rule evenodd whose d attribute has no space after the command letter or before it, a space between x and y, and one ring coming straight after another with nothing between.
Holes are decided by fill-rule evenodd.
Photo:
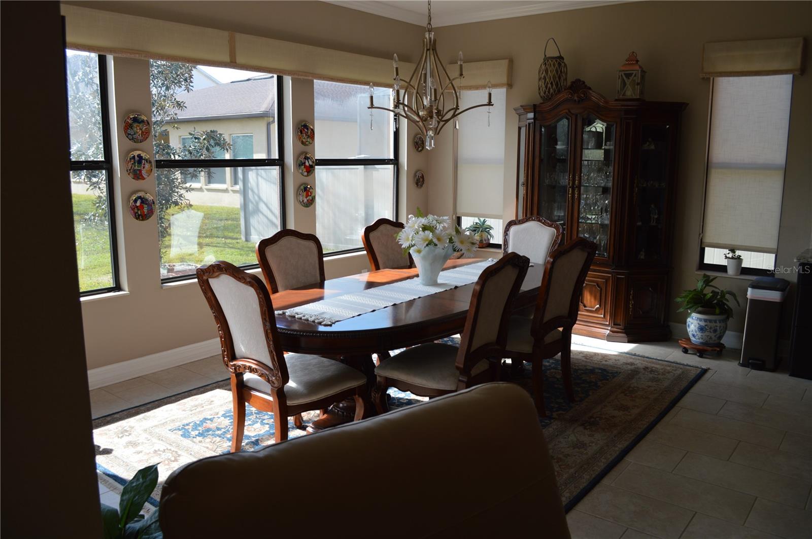
<instances>
[{"instance_id":1,"label":"rightmost dark glass panel of the wooden china cabinet","mask_svg":"<svg viewBox=\"0 0 812 539\"><path fill-rule=\"evenodd\" d=\"M670 126L644 123L641 127L640 168L634 179L634 257L658 261L663 257L663 217L668 191Z\"/></svg>"}]
</instances>

